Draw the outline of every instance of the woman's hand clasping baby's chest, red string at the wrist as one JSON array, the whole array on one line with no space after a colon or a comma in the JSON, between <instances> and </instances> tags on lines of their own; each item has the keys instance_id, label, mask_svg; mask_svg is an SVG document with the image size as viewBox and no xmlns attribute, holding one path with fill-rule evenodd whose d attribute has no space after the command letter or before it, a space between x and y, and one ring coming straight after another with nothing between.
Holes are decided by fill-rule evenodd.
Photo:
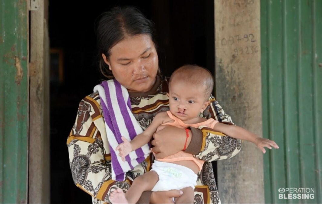
<instances>
[{"instance_id":1,"label":"woman's hand clasping baby's chest, red string at the wrist","mask_svg":"<svg viewBox=\"0 0 322 204\"><path fill-rule=\"evenodd\" d=\"M188 131L189 137L186 147L191 141L191 131ZM154 140L151 144L154 145L152 152L156 153L157 159L175 154L183 150L186 140L185 129L177 128L172 125L160 125L153 134Z\"/></svg>"}]
</instances>

